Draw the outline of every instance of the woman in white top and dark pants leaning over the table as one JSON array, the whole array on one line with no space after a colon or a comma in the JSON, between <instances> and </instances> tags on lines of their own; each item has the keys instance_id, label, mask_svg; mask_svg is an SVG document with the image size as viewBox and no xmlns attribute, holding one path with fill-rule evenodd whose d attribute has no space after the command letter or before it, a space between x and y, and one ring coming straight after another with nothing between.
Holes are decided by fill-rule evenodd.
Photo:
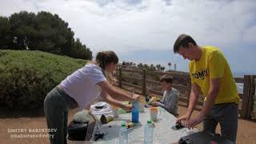
<instances>
[{"instance_id":1,"label":"woman in white top and dark pants leaning over the table","mask_svg":"<svg viewBox=\"0 0 256 144\"><path fill-rule=\"evenodd\" d=\"M118 56L113 51L98 52L96 62L76 70L46 95L46 122L48 129L52 129L49 134L54 134L53 138L50 137L51 144L66 143L70 98L74 98L79 108L84 109L102 95L103 100L111 105L131 110L132 107L124 105L122 101L136 102L139 96L134 94L130 97L106 81L104 71L112 73L117 64Z\"/></svg>"}]
</instances>

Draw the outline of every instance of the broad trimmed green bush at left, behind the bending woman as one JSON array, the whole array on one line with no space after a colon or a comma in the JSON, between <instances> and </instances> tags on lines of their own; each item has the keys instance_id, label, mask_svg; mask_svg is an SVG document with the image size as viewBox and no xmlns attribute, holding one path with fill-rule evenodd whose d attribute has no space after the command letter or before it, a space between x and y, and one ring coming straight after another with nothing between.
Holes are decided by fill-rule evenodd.
<instances>
[{"instance_id":1,"label":"broad trimmed green bush at left, behind the bending woman","mask_svg":"<svg viewBox=\"0 0 256 144\"><path fill-rule=\"evenodd\" d=\"M85 60L41 51L0 50L0 105L42 108L46 94Z\"/></svg>"}]
</instances>

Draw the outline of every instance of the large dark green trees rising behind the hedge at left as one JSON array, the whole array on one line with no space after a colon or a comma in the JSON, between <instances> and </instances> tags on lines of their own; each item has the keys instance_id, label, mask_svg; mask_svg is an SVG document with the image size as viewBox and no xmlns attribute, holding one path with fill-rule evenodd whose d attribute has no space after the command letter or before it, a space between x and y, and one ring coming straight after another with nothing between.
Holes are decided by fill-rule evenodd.
<instances>
[{"instance_id":1,"label":"large dark green trees rising behind the hedge at left","mask_svg":"<svg viewBox=\"0 0 256 144\"><path fill-rule=\"evenodd\" d=\"M0 49L41 50L72 58L92 59L90 48L76 38L58 14L21 11L0 16Z\"/></svg>"}]
</instances>

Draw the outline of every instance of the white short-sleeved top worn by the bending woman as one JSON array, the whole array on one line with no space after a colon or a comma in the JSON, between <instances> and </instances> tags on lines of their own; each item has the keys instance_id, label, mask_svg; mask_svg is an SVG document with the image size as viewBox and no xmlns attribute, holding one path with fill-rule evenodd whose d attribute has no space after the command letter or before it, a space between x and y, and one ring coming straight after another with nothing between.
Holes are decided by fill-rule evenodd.
<instances>
[{"instance_id":1,"label":"white short-sleeved top worn by the bending woman","mask_svg":"<svg viewBox=\"0 0 256 144\"><path fill-rule=\"evenodd\" d=\"M78 102L80 109L84 109L101 93L99 82L106 81L102 68L95 64L87 64L76 70L61 82L62 90Z\"/></svg>"}]
</instances>

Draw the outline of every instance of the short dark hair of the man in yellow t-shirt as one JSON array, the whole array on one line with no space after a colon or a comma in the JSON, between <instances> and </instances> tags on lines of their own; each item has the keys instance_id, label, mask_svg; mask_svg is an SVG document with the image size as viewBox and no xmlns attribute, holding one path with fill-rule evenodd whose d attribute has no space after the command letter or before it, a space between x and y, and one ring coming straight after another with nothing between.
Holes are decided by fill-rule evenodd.
<instances>
[{"instance_id":1,"label":"short dark hair of the man in yellow t-shirt","mask_svg":"<svg viewBox=\"0 0 256 144\"><path fill-rule=\"evenodd\" d=\"M192 43L194 46L197 46L197 43L194 41L190 35L180 34L174 43L174 54L178 53L179 46L183 46L184 48L188 47L189 43Z\"/></svg>"}]
</instances>

